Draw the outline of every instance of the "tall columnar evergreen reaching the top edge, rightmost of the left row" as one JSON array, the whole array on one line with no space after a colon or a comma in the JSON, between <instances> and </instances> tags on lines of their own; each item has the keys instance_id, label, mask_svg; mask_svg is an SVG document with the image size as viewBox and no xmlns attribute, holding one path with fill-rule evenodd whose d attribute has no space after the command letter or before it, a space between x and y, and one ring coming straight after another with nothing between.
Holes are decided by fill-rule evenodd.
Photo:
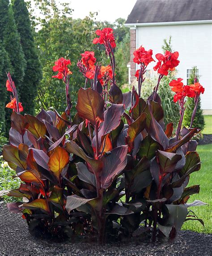
<instances>
[{"instance_id":1,"label":"tall columnar evergreen reaching the top edge, rightmost of the left row","mask_svg":"<svg viewBox=\"0 0 212 256\"><path fill-rule=\"evenodd\" d=\"M24 107L24 112L34 114L34 99L37 96L38 84L42 77L40 62L34 44L29 12L26 8L25 1L12 0L12 7L26 60L25 75L20 90L20 98Z\"/></svg>"}]
</instances>

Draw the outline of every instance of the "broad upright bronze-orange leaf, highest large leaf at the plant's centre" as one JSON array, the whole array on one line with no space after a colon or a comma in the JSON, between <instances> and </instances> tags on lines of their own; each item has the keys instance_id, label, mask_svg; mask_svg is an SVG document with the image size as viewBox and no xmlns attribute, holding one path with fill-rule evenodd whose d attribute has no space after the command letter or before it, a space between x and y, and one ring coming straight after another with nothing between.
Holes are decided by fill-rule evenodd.
<instances>
[{"instance_id":1,"label":"broad upright bronze-orange leaf, highest large leaf at the plant's centre","mask_svg":"<svg viewBox=\"0 0 212 256\"><path fill-rule=\"evenodd\" d=\"M94 126L97 121L104 120L104 100L91 88L79 90L76 109L80 117L88 119Z\"/></svg>"}]
</instances>

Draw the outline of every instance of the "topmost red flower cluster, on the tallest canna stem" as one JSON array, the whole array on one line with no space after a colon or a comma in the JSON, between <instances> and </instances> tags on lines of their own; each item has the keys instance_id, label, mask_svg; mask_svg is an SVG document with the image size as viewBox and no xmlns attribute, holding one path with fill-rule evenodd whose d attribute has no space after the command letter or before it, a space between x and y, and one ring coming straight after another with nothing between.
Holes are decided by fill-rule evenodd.
<instances>
[{"instance_id":1,"label":"topmost red flower cluster, on the tallest canna stem","mask_svg":"<svg viewBox=\"0 0 212 256\"><path fill-rule=\"evenodd\" d=\"M107 48L109 42L112 48L116 47L113 29L110 27L103 28L102 30L98 29L96 30L96 34L99 35L99 38L96 37L93 39L94 44L104 44Z\"/></svg>"}]
</instances>

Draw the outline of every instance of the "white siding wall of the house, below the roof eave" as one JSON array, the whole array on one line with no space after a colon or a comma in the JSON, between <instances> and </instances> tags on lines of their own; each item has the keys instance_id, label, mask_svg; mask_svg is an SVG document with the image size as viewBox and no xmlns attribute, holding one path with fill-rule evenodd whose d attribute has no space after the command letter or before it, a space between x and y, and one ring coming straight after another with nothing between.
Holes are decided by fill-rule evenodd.
<instances>
[{"instance_id":1,"label":"white siding wall of the house, below the roof eave","mask_svg":"<svg viewBox=\"0 0 212 256\"><path fill-rule=\"evenodd\" d=\"M183 78L186 84L187 69L197 66L199 82L205 87L202 109L212 109L212 24L139 26L137 33L137 48L143 45L146 50L152 49L154 56L162 53L163 40L172 36L172 48L179 52L177 77Z\"/></svg>"}]
</instances>

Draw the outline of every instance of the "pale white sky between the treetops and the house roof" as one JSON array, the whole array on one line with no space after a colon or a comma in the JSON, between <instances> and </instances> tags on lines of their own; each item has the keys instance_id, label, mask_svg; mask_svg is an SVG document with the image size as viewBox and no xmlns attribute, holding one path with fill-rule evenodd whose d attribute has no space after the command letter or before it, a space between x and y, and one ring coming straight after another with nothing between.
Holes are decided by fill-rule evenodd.
<instances>
[{"instance_id":1,"label":"pale white sky between the treetops and the house roof","mask_svg":"<svg viewBox=\"0 0 212 256\"><path fill-rule=\"evenodd\" d=\"M114 22L117 18L125 18L131 13L136 0L55 0L56 3L70 2L74 9L73 18L83 19L89 12L98 12L98 21ZM36 11L36 10L35 10ZM37 12L36 12L37 13Z\"/></svg>"}]
</instances>

